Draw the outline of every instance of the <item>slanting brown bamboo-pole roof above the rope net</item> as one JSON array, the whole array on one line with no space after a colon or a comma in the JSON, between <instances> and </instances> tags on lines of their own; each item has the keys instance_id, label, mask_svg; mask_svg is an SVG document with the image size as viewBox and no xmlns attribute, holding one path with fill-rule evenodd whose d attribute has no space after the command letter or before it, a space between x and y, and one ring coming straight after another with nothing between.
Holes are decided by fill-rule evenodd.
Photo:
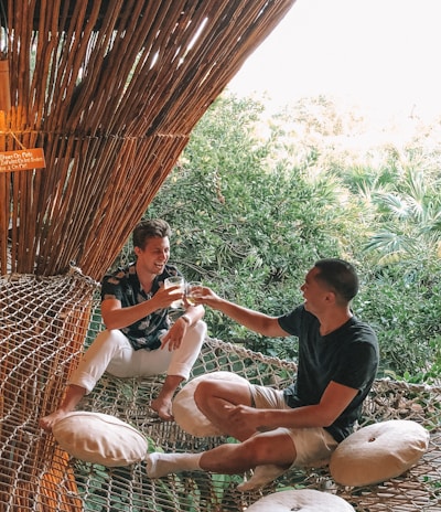
<instances>
[{"instance_id":1,"label":"slanting brown bamboo-pole roof above the rope net","mask_svg":"<svg viewBox=\"0 0 441 512\"><path fill-rule=\"evenodd\" d=\"M1 274L100 278L294 1L1 0L0 152L45 158L0 171Z\"/></svg>"}]
</instances>

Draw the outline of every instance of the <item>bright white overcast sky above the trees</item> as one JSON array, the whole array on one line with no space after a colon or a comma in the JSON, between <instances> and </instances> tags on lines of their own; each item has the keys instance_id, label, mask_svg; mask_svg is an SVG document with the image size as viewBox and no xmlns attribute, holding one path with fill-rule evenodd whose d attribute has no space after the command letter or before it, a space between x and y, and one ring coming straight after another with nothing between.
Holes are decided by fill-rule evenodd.
<instances>
[{"instance_id":1,"label":"bright white overcast sky above the trees","mask_svg":"<svg viewBox=\"0 0 441 512\"><path fill-rule=\"evenodd\" d=\"M441 0L297 0L228 88L441 116Z\"/></svg>"}]
</instances>

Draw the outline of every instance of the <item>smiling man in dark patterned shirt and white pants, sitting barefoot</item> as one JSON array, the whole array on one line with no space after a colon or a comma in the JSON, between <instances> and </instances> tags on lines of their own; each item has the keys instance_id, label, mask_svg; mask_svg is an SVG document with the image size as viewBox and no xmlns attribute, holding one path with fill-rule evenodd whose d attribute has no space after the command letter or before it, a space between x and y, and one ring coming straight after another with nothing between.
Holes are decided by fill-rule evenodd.
<instances>
[{"instance_id":1,"label":"smiling man in dark patterned shirt and white pants, sitting barefoot","mask_svg":"<svg viewBox=\"0 0 441 512\"><path fill-rule=\"evenodd\" d=\"M40 419L43 429L51 431L55 422L74 410L105 371L118 377L166 372L151 406L162 419L173 419L174 392L189 378L205 339L206 324L201 305L187 307L171 324L169 307L184 294L176 287L163 286L168 277L180 275L168 265L170 236L170 226L162 220L142 221L135 227L136 262L103 279L101 316L107 329L84 354L60 407Z\"/></svg>"}]
</instances>

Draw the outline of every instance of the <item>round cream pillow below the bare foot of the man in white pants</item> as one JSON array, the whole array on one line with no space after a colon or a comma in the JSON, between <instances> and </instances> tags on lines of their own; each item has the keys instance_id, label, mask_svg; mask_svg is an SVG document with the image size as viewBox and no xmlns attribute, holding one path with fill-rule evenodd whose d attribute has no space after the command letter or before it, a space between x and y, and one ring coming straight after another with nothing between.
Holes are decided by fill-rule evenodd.
<instances>
[{"instance_id":1,"label":"round cream pillow below the bare foot of the man in white pants","mask_svg":"<svg viewBox=\"0 0 441 512\"><path fill-rule=\"evenodd\" d=\"M67 454L85 462L129 466L144 459L147 439L131 425L101 413L75 410L56 422L52 433Z\"/></svg>"}]
</instances>

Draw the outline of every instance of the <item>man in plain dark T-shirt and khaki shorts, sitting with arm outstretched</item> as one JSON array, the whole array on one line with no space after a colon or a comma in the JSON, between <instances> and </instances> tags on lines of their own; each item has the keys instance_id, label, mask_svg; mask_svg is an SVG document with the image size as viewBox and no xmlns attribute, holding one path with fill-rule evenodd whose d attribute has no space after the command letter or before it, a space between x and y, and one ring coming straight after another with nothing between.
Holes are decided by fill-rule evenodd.
<instances>
[{"instance_id":1,"label":"man in plain dark T-shirt and khaki shorts, sitting with arm outstretched","mask_svg":"<svg viewBox=\"0 0 441 512\"><path fill-rule=\"evenodd\" d=\"M299 339L297 382L283 391L225 381L201 382L194 398L219 431L239 444L202 454L150 454L150 478L204 470L241 473L255 469L239 487L250 490L291 466L329 460L352 433L378 367L373 329L354 317L351 301L358 291L354 267L342 259L322 259L301 286L304 302L281 317L246 309L203 288L197 301L222 311L266 337Z\"/></svg>"}]
</instances>

